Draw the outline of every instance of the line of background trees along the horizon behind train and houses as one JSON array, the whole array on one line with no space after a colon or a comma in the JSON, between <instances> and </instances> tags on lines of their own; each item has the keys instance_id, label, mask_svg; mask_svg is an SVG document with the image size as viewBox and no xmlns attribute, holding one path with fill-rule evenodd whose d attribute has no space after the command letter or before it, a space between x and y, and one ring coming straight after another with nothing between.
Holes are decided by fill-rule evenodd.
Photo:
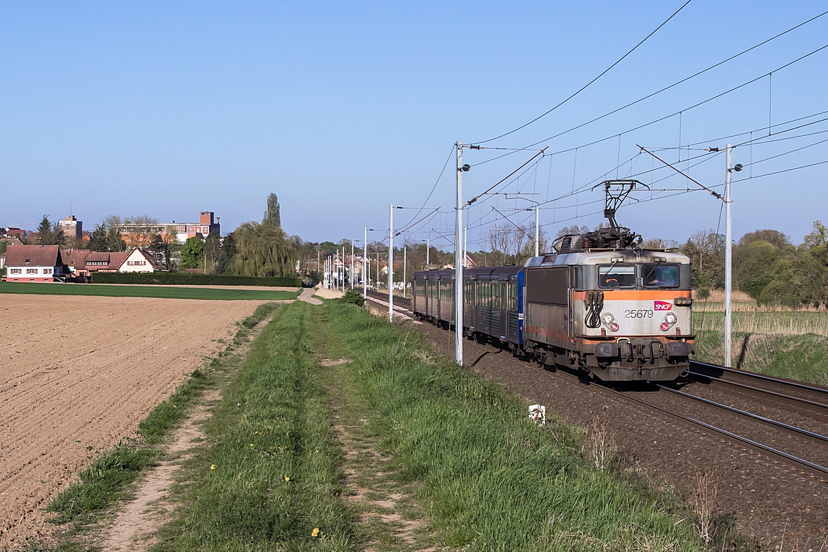
<instances>
[{"instance_id":1,"label":"line of background trees along the horizon behind train and houses","mask_svg":"<svg viewBox=\"0 0 828 552\"><path fill-rule=\"evenodd\" d=\"M288 236L282 229L280 206L276 194L267 197L262 222L241 224L232 233L221 238L212 232L202 240L188 238L178 242L176 228L157 231L158 221L146 215L132 218L109 216L89 233L89 241L65 235L58 223L44 216L37 228L36 243L62 247L89 247L99 252L121 252L128 245L140 245L167 270L202 268L218 274L239 276L295 276L315 283L322 279L320 266L325 257L351 251L349 239L339 242L306 242L299 236ZM601 228L604 225L599 225ZM130 226L130 244L119 228ZM577 225L561 228L556 238L568 233L585 233L590 228ZM541 252L551 249L551 239L540 232ZM533 223L516 226L502 223L489 228L481 237L486 247L473 252L478 266L522 265L534 255ZM452 252L430 247L426 243L402 239L395 247L395 279L402 279L402 247L406 249L406 271L423 270L426 258L432 265L447 266L455 262ZM640 240L639 247L673 249L691 259L693 287L703 294L705 290L724 286L724 235L715 230L699 230L686 242L651 238ZM356 248L361 253L362 248ZM368 244L372 279L377 268L374 254L379 253L381 264L388 260L388 246L382 242ZM762 305L801 307L813 305L828 307L828 228L816 221L812 232L802 243L794 245L784 233L762 229L746 233L733 247L734 289L744 290Z\"/></svg>"}]
</instances>

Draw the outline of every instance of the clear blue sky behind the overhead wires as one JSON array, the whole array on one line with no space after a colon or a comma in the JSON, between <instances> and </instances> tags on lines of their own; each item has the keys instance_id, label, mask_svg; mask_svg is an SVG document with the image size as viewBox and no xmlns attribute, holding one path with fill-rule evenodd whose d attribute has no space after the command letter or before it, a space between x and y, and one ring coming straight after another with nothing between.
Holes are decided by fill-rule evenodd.
<instances>
[{"instance_id":1,"label":"clear blue sky behind the overhead wires","mask_svg":"<svg viewBox=\"0 0 828 552\"><path fill-rule=\"evenodd\" d=\"M388 227L388 204L421 207L455 141L482 141L537 117L681 3L2 2L0 225L36 223L43 214L63 218L70 209L85 228L108 214L182 221L209 209L227 233L261 219L267 194L275 192L288 233L313 241L361 238L365 226ZM692 0L585 92L486 145L525 147L551 137L785 31L824 6ZM546 201L652 169L637 176L650 183L667 172L639 156L636 144L723 147L726 140L713 139L749 131L758 138L767 134L768 120L779 125L828 111L828 49L686 109L825 46L826 37L828 16L543 142L535 148L553 152L614 137L579 147L577 157L574 151L544 156L500 190L533 191ZM626 132L682 109L681 116ZM776 137L826 129L828 122L821 122ZM748 165L826 137L754 142L734 150L734 163ZM474 166L498 153L466 151L465 162ZM658 155L676 162L700 153ZM533 154L518 151L474 166L465 174L466 198ZM616 172L619 160L630 164ZM734 236L777 228L801 242L812 221L828 222L828 164L743 180L826 160L828 142L735 175ZM724 155L689 170L705 185L718 185ZM676 176L657 186L687 185ZM564 224L595 226L600 199L598 191L585 191L545 204L541 223L552 234ZM449 211L453 200L450 161L427 208ZM481 202L467 213L469 248L483 247L488 224L497 222L493 205L515 222L532 216L508 210L526 202L502 196ZM398 211L397 221L415 214ZM438 214L408 237L450 230L452 216ZM680 194L624 207L618 218L646 237L683 241L720 224L720 202L704 192Z\"/></svg>"}]
</instances>

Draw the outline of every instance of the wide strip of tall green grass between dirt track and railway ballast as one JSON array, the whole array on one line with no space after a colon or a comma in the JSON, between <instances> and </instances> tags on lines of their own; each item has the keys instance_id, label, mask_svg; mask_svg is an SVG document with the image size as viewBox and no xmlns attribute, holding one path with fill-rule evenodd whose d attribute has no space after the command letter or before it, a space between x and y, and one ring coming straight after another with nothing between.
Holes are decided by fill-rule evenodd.
<instances>
[{"instance_id":1,"label":"wide strip of tall green grass between dirt track and railway ballast","mask_svg":"<svg viewBox=\"0 0 828 552\"><path fill-rule=\"evenodd\" d=\"M416 332L339 302L332 358L382 436L428 529L450 550L703 550L670 498L599 470L582 434L533 425L526 405L431 353ZM318 331L318 330L317 330Z\"/></svg>"}]
</instances>

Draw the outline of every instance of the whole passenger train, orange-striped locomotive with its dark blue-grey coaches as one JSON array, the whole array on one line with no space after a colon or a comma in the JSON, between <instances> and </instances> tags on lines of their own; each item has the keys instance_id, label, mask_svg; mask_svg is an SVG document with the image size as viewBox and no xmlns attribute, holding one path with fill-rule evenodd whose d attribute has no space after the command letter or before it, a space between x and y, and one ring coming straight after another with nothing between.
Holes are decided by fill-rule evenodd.
<instances>
[{"instance_id":1,"label":"whole passenger train, orange-striped locomotive with its dark blue-grey coaches","mask_svg":"<svg viewBox=\"0 0 828 552\"><path fill-rule=\"evenodd\" d=\"M612 218L614 223L614 218ZM690 368L690 258L628 228L567 234L524 266L463 271L463 329L587 380L669 382ZM426 267L430 268L430 267ZM412 275L412 312L455 326L455 271Z\"/></svg>"}]
</instances>

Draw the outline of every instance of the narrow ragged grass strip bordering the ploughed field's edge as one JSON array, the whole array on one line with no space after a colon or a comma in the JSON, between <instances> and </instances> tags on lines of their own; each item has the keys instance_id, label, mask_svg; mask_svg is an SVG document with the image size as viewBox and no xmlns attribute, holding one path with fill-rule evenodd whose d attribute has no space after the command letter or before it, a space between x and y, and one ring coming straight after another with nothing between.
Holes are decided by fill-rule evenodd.
<instances>
[{"instance_id":1,"label":"narrow ragged grass strip bordering the ploughed field's edge","mask_svg":"<svg viewBox=\"0 0 828 552\"><path fill-rule=\"evenodd\" d=\"M277 307L276 304L259 305L240 324L236 340L244 338L249 329L270 316ZM162 456L161 447L157 445L185 418L201 391L220 381L222 372L232 370L237 363L237 357L215 358L209 366L196 369L167 401L156 405L142 420L138 425L140 439L122 439L117 447L106 451L79 473L79 482L55 497L46 508L54 513L50 521L71 524L70 529L60 536L56 550L86 550L84 529L107 517L113 505L132 497L133 483ZM42 547L34 545L31 550L42 550Z\"/></svg>"}]
</instances>

